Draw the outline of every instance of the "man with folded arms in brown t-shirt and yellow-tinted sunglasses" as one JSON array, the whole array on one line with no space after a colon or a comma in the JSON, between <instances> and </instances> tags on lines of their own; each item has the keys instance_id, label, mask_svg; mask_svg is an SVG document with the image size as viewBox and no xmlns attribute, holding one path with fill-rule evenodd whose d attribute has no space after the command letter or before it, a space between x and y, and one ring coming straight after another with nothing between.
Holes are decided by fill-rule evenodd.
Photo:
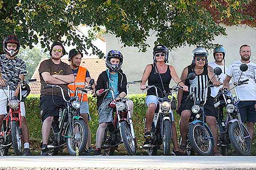
<instances>
[{"instance_id":1,"label":"man with folded arms in brown t-shirt and yellow-tinted sunglasses","mask_svg":"<svg viewBox=\"0 0 256 170\"><path fill-rule=\"evenodd\" d=\"M41 82L40 105L42 109L42 156L48 155L48 138L51 133L53 118L59 118L59 109L65 107L65 101L59 88L44 88L46 84L58 84L64 90L65 98L68 99L67 84L73 83L75 77L71 67L61 61L65 54L64 46L60 42L53 42L49 52L51 58L40 63L39 75Z\"/></svg>"}]
</instances>

